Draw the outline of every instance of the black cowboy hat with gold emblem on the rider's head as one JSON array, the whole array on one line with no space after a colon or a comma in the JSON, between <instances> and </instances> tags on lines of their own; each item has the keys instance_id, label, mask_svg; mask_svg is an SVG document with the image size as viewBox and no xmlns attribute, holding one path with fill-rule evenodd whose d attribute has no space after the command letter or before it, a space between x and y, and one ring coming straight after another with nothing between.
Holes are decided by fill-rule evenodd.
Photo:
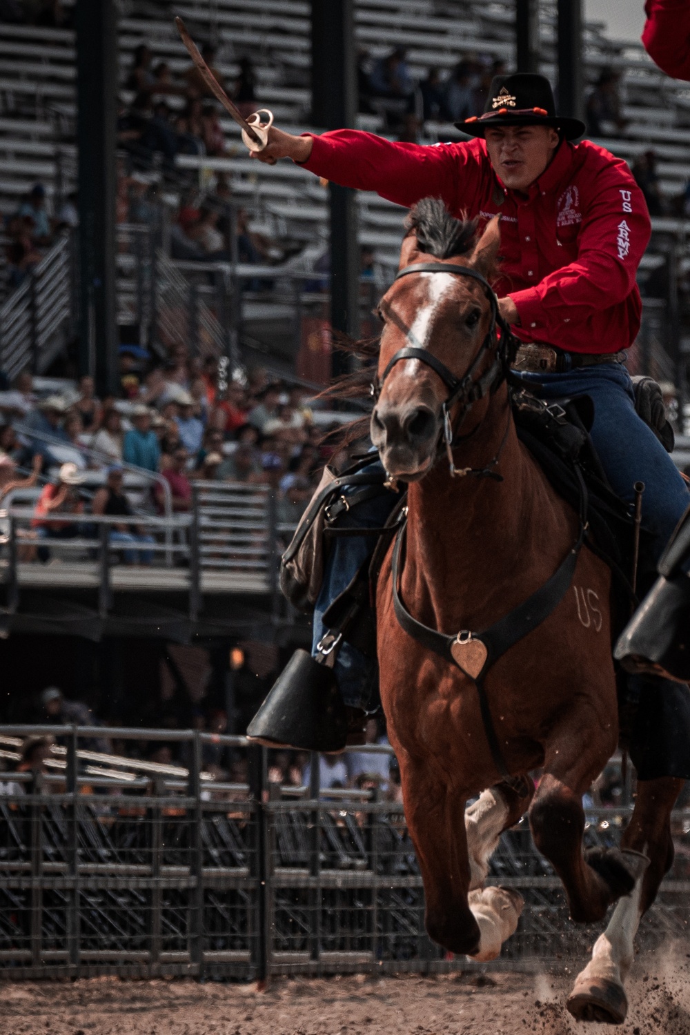
<instances>
[{"instance_id":1,"label":"black cowboy hat with gold emblem on the rider's head","mask_svg":"<svg viewBox=\"0 0 690 1035\"><path fill-rule=\"evenodd\" d=\"M483 137L488 125L553 126L566 140L578 140L586 129L579 119L557 115L551 84L544 76L527 71L496 76L491 80L484 114L455 125L471 137Z\"/></svg>"}]
</instances>

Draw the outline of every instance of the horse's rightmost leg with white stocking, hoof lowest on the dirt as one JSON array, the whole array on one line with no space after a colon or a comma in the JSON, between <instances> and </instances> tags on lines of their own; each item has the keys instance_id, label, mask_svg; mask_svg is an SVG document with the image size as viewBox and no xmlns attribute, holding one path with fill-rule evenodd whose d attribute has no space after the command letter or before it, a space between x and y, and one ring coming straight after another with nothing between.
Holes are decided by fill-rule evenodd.
<instances>
[{"instance_id":1,"label":"horse's rightmost leg with white stocking, hoof lowest on the dirt","mask_svg":"<svg viewBox=\"0 0 690 1035\"><path fill-rule=\"evenodd\" d=\"M619 901L594 946L592 959L575 980L568 1009L577 1021L625 1021L628 1000L624 982L632 966L633 942L640 918L673 861L670 814L682 787L683 780L669 777L637 785L635 808L621 842L635 869L635 887Z\"/></svg>"}]
</instances>

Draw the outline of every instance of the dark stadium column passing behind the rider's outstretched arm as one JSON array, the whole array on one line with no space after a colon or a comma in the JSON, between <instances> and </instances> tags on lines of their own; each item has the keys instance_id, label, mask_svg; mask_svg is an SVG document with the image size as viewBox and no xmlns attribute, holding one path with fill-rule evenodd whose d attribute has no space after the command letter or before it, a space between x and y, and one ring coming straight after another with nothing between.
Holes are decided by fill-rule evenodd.
<instances>
[{"instance_id":1,"label":"dark stadium column passing behind the rider's outstretched arm","mask_svg":"<svg viewBox=\"0 0 690 1035\"><path fill-rule=\"evenodd\" d=\"M357 56L353 0L311 0L311 118L326 129L354 128ZM359 245L355 191L329 184L331 224L331 325L359 334ZM349 368L333 356L333 374Z\"/></svg>"}]
</instances>

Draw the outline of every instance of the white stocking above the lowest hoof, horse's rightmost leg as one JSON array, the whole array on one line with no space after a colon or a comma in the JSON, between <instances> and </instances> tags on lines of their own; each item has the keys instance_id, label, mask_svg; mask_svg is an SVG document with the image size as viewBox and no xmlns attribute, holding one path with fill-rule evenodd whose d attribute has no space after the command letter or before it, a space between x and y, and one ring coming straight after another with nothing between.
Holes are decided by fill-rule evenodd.
<instances>
[{"instance_id":1,"label":"white stocking above the lowest hoof, horse's rightmost leg","mask_svg":"<svg viewBox=\"0 0 690 1035\"><path fill-rule=\"evenodd\" d=\"M647 847L646 847L647 850ZM634 958L634 938L642 915L640 899L642 882L649 860L630 853L626 863L637 875L635 886L618 905L603 935L597 939L592 950L592 959L576 981L606 980L623 986Z\"/></svg>"}]
</instances>

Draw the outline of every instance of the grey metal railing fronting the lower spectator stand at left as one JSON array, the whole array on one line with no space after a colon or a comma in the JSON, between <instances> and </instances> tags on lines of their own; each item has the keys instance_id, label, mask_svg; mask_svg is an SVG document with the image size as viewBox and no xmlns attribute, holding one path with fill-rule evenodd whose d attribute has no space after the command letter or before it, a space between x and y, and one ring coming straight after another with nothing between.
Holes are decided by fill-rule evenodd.
<instances>
[{"instance_id":1,"label":"grey metal railing fronting the lower spectator stand at left","mask_svg":"<svg viewBox=\"0 0 690 1035\"><path fill-rule=\"evenodd\" d=\"M275 610L278 556L291 529L278 525L275 493L241 482L191 487L189 511L163 516L54 511L36 519L33 506L0 511L0 583L9 614L20 609L23 587L37 586L92 589L101 618L117 592L132 590L185 593L191 621L209 593L270 595ZM41 524L51 527L47 535ZM123 537L121 525L136 528ZM55 558L59 567L44 563Z\"/></svg>"}]
</instances>

